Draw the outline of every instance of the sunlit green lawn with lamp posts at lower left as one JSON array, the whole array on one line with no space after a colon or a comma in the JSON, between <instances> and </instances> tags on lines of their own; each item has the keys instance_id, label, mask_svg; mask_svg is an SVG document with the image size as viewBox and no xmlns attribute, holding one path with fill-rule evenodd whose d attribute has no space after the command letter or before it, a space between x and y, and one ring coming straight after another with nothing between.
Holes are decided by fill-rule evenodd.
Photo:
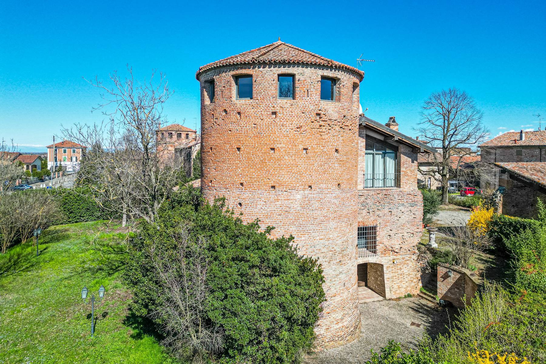
<instances>
[{"instance_id":1,"label":"sunlit green lawn with lamp posts at lower left","mask_svg":"<svg viewBox=\"0 0 546 364\"><path fill-rule=\"evenodd\" d=\"M117 228L117 226L114 226ZM53 226L0 255L0 363L173 363L130 314L120 275L125 234L101 222ZM84 285L97 293L95 334ZM98 297L98 294L96 294Z\"/></svg>"}]
</instances>

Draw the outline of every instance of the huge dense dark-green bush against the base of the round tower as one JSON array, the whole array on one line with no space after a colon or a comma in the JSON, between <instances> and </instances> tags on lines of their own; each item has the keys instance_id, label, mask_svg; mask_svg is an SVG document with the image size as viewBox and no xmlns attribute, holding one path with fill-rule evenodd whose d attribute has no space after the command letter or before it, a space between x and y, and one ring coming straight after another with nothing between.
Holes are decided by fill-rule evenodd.
<instances>
[{"instance_id":1,"label":"huge dense dark-green bush against the base of the round tower","mask_svg":"<svg viewBox=\"0 0 546 364\"><path fill-rule=\"evenodd\" d=\"M134 240L125 275L134 312L150 315L179 356L206 354L225 363L298 361L312 346L325 300L317 261L299 256L291 236L272 239L272 228L259 232L258 222L243 224L224 211L222 200L194 205L192 196L164 205L156 223L143 224ZM201 275L206 284L198 289ZM170 281L197 282L179 289L185 305L175 313L203 330L185 320L173 324ZM199 296L184 294L188 290L199 292L203 305L195 302ZM203 342L188 338L188 332L198 332Z\"/></svg>"}]
</instances>

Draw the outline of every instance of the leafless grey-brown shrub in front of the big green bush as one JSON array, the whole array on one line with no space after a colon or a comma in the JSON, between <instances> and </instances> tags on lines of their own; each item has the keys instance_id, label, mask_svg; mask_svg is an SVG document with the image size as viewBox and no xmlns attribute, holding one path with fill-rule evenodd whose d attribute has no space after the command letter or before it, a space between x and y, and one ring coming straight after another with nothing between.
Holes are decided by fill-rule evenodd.
<instances>
[{"instance_id":1,"label":"leafless grey-brown shrub in front of the big green bush","mask_svg":"<svg viewBox=\"0 0 546 364\"><path fill-rule=\"evenodd\" d=\"M151 316L162 322L163 343L175 354L183 356L189 349L192 356L206 361L209 354L222 351L223 338L221 328L205 319L209 291L206 242L198 238L192 243L187 226L182 224L171 238L177 244L175 254L149 252L161 281L158 294L162 302Z\"/></svg>"}]
</instances>

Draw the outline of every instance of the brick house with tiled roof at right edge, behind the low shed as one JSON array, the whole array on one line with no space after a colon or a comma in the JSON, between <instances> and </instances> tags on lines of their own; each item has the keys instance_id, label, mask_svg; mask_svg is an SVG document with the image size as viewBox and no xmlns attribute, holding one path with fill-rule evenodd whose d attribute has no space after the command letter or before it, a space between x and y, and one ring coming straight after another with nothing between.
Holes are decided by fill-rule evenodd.
<instances>
[{"instance_id":1,"label":"brick house with tiled roof at right edge, behind the low shed","mask_svg":"<svg viewBox=\"0 0 546 364\"><path fill-rule=\"evenodd\" d=\"M546 162L546 130L507 132L479 147L482 163L489 166L481 176L482 188L497 189L504 177L496 163Z\"/></svg>"}]
</instances>

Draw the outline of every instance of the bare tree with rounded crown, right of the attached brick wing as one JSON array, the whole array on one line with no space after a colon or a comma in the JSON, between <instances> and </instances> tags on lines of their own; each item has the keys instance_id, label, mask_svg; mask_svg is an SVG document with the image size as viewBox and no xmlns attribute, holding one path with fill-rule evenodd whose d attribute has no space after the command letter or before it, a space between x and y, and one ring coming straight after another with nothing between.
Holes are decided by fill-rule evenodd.
<instances>
[{"instance_id":1,"label":"bare tree with rounded crown, right of the attached brick wing","mask_svg":"<svg viewBox=\"0 0 546 364\"><path fill-rule=\"evenodd\" d=\"M470 171L460 167L472 153L471 147L489 135L482 124L482 115L473 98L458 88L434 92L425 100L421 127L416 131L440 152L429 157L431 168L419 168L419 171L441 182L443 204L448 204L448 181ZM473 169L472 173L476 172Z\"/></svg>"}]
</instances>

